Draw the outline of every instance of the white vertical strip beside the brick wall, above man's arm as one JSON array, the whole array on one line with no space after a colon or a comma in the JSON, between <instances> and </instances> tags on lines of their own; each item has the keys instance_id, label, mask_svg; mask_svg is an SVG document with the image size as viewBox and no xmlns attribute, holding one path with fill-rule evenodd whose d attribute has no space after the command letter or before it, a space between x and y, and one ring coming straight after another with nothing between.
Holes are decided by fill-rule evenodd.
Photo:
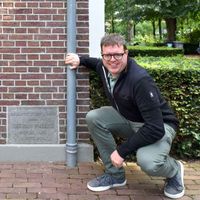
<instances>
[{"instance_id":1,"label":"white vertical strip beside the brick wall, above man's arm","mask_svg":"<svg viewBox=\"0 0 200 200\"><path fill-rule=\"evenodd\" d=\"M105 34L105 0L89 0L89 55L100 57L100 40Z\"/></svg>"}]
</instances>

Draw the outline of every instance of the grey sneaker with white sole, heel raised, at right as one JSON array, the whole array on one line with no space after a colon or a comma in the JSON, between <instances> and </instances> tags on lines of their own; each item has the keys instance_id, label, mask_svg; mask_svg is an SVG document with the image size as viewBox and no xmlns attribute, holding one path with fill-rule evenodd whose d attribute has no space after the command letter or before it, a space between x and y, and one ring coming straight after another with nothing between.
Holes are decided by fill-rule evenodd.
<instances>
[{"instance_id":1,"label":"grey sneaker with white sole, heel raised, at right","mask_svg":"<svg viewBox=\"0 0 200 200\"><path fill-rule=\"evenodd\" d=\"M184 167L180 161L178 161L178 165L179 165L179 170L177 174L174 177L169 178L167 180L164 189L165 196L171 199L180 198L185 193L184 181L183 181Z\"/></svg>"}]
</instances>

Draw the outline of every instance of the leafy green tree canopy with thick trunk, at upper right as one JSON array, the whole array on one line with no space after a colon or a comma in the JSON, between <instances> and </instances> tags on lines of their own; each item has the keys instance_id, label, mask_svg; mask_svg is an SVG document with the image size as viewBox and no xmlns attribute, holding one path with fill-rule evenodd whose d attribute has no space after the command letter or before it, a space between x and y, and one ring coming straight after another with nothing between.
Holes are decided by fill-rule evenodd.
<instances>
[{"instance_id":1,"label":"leafy green tree canopy with thick trunk, at upper right","mask_svg":"<svg viewBox=\"0 0 200 200\"><path fill-rule=\"evenodd\" d=\"M111 27L109 31L115 32L115 23L121 21L127 32L127 39L130 38L134 26L144 20L165 20L167 41L176 40L179 21L193 19L199 25L200 0L106 0L105 2L106 22Z\"/></svg>"}]
</instances>

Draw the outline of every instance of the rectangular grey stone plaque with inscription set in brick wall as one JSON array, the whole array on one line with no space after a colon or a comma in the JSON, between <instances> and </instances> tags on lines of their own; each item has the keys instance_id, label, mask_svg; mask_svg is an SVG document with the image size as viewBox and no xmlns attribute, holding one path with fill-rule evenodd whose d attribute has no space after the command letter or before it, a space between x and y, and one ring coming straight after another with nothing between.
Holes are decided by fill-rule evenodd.
<instances>
[{"instance_id":1,"label":"rectangular grey stone plaque with inscription set in brick wall","mask_svg":"<svg viewBox=\"0 0 200 200\"><path fill-rule=\"evenodd\" d=\"M56 107L8 107L8 144L57 144Z\"/></svg>"}]
</instances>

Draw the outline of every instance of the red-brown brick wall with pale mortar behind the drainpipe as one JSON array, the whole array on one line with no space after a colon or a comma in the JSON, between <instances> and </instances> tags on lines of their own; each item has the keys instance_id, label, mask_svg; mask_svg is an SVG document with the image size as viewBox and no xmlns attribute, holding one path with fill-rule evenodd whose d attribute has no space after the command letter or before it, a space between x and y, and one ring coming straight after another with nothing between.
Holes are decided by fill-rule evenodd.
<instances>
[{"instance_id":1,"label":"red-brown brick wall with pale mortar behind the drainpipe","mask_svg":"<svg viewBox=\"0 0 200 200\"><path fill-rule=\"evenodd\" d=\"M88 0L77 0L77 52L87 54ZM9 106L57 106L60 143L66 142L67 0L0 1L0 144ZM89 140L88 72L77 70L77 133Z\"/></svg>"}]
</instances>

